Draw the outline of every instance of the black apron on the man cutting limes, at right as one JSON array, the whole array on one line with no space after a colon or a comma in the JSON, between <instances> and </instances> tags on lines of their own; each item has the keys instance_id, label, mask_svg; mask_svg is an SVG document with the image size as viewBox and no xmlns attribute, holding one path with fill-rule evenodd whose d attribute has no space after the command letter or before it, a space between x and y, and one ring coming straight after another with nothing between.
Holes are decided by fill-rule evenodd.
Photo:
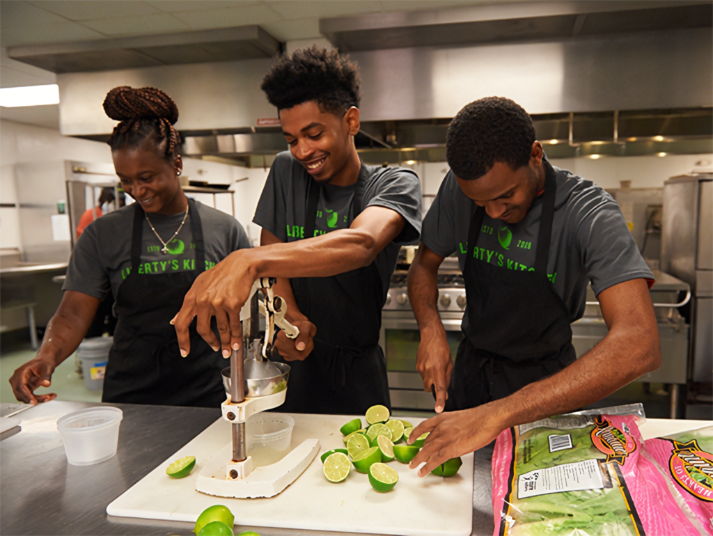
<instances>
[{"instance_id":1,"label":"black apron on the man cutting limes, at right","mask_svg":"<svg viewBox=\"0 0 713 536\"><path fill-rule=\"evenodd\" d=\"M485 209L477 207L471 217L463 273L468 326L453 365L448 411L505 398L576 359L569 311L547 275L557 185L552 166L543 163L545 193L534 271L476 261Z\"/></svg>"}]
</instances>

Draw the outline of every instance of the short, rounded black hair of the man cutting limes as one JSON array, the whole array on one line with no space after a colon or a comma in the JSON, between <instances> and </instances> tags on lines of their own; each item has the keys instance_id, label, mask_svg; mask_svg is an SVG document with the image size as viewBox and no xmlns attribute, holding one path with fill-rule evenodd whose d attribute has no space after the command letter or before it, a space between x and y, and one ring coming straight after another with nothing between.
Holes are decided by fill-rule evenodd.
<instances>
[{"instance_id":1,"label":"short, rounded black hair of the man cutting limes","mask_svg":"<svg viewBox=\"0 0 713 536\"><path fill-rule=\"evenodd\" d=\"M530 162L535 125L513 100L486 97L466 105L446 134L446 159L456 177L473 180L496 162L516 170Z\"/></svg>"}]
</instances>

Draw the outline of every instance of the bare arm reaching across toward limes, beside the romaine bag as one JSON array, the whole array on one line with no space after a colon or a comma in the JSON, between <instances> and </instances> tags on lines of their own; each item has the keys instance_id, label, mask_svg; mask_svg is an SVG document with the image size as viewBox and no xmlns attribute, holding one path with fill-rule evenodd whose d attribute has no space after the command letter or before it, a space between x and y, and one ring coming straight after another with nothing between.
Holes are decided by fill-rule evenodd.
<instances>
[{"instance_id":1,"label":"bare arm reaching across toward limes, beside the romaine bag","mask_svg":"<svg viewBox=\"0 0 713 536\"><path fill-rule=\"evenodd\" d=\"M411 438L430 435L411 468L425 462L419 475L427 475L446 460L487 445L506 428L587 406L659 368L659 332L645 279L616 284L597 299L609 328L597 346L563 371L511 396L419 424Z\"/></svg>"}]
</instances>

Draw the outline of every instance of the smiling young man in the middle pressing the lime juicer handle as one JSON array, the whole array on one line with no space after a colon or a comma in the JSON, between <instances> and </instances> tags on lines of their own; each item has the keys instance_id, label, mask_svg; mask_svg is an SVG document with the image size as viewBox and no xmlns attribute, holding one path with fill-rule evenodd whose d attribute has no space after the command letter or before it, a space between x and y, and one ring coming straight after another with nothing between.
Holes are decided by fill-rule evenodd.
<instances>
[{"instance_id":1,"label":"smiling young man in the middle pressing the lime juicer handle","mask_svg":"<svg viewBox=\"0 0 713 536\"><path fill-rule=\"evenodd\" d=\"M257 277L277 277L292 341L278 334L277 359L292 367L279 411L364 413L389 406L379 347L381 308L400 244L421 231L419 178L361 163L359 71L337 51L307 48L277 58L262 82L279 113L289 152L280 153L254 222L261 246L231 255L199 277L175 325L181 349L194 316L224 355L241 344L240 307ZM221 340L206 329L215 315Z\"/></svg>"}]
</instances>

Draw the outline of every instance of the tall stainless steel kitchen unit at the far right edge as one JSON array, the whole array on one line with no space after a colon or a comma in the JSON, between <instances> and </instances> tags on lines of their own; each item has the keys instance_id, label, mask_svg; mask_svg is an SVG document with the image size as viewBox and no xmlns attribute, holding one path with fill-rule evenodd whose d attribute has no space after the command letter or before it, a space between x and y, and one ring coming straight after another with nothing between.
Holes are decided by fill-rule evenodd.
<instances>
[{"instance_id":1,"label":"tall stainless steel kitchen unit at the far right edge","mask_svg":"<svg viewBox=\"0 0 713 536\"><path fill-rule=\"evenodd\" d=\"M692 327L689 396L695 398L695 384L713 383L713 174L664 183L661 268L689 284L693 294L686 314Z\"/></svg>"}]
</instances>

